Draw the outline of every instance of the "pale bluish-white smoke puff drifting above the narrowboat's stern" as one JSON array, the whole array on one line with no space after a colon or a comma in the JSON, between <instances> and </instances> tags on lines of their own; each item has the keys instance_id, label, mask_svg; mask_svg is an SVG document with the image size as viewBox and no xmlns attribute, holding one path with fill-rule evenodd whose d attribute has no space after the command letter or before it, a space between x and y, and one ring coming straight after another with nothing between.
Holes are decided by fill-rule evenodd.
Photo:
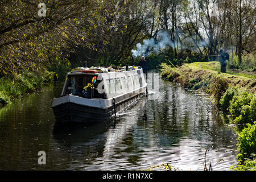
<instances>
[{"instance_id":1,"label":"pale bluish-white smoke puff drifting above the narrowboat's stern","mask_svg":"<svg viewBox=\"0 0 256 182\"><path fill-rule=\"evenodd\" d=\"M131 50L134 57L138 56L147 56L148 54L154 52L159 53L163 49L166 49L167 46L173 47L174 43L171 41L171 37L168 31L159 31L156 36L156 40L154 38L143 40L143 44L136 44L137 49Z\"/></svg>"}]
</instances>

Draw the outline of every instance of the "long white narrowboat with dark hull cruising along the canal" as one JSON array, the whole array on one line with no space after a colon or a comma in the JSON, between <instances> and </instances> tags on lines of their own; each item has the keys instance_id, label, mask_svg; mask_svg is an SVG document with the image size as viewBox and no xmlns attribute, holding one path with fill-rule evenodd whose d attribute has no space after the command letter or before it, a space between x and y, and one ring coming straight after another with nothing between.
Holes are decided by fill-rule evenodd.
<instances>
[{"instance_id":1,"label":"long white narrowboat with dark hull cruising along the canal","mask_svg":"<svg viewBox=\"0 0 256 182\"><path fill-rule=\"evenodd\" d=\"M53 98L56 123L92 125L112 117L147 92L139 67L74 68L67 73L61 96Z\"/></svg>"}]
</instances>

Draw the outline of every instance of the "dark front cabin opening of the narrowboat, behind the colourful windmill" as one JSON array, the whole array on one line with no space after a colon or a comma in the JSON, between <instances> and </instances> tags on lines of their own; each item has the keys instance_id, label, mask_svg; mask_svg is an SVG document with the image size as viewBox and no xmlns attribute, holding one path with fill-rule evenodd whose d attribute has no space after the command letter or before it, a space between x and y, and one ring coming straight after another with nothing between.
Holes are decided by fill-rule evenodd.
<instances>
[{"instance_id":1,"label":"dark front cabin opening of the narrowboat, behind the colourful windmill","mask_svg":"<svg viewBox=\"0 0 256 182\"><path fill-rule=\"evenodd\" d=\"M92 84L92 79L94 75L76 75L76 76L68 76L67 88L65 89L65 94L73 94L75 96L87 97L84 92L84 86L88 83ZM105 98L105 94L98 93L97 86L101 81L96 81L93 84L94 89L92 93L92 98Z\"/></svg>"}]
</instances>

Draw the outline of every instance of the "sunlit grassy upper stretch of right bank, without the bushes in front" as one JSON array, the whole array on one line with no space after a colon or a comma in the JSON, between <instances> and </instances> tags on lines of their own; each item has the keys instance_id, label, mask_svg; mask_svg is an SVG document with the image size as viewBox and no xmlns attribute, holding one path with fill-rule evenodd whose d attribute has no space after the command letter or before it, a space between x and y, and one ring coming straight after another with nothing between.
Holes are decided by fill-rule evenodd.
<instances>
[{"instance_id":1,"label":"sunlit grassy upper stretch of right bank, without the bushes in front","mask_svg":"<svg viewBox=\"0 0 256 182\"><path fill-rule=\"evenodd\" d=\"M256 91L256 76L253 72L221 73L220 65L216 61L184 64L178 68L161 64L160 71L163 78L193 90L207 90L213 82L222 78L228 82L229 86L245 88L250 93Z\"/></svg>"}]
</instances>

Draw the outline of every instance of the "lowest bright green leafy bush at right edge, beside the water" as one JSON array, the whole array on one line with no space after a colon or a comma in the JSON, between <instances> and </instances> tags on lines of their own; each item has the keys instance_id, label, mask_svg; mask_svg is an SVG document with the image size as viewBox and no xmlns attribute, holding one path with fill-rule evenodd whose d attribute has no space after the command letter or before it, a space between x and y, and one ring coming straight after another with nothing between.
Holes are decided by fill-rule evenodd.
<instances>
[{"instance_id":1,"label":"lowest bright green leafy bush at right edge, beside the water","mask_svg":"<svg viewBox=\"0 0 256 182\"><path fill-rule=\"evenodd\" d=\"M256 154L256 121L253 125L247 124L242 132L239 134L238 151L240 154L237 155L238 164L244 164L245 160L255 160Z\"/></svg>"}]
</instances>

